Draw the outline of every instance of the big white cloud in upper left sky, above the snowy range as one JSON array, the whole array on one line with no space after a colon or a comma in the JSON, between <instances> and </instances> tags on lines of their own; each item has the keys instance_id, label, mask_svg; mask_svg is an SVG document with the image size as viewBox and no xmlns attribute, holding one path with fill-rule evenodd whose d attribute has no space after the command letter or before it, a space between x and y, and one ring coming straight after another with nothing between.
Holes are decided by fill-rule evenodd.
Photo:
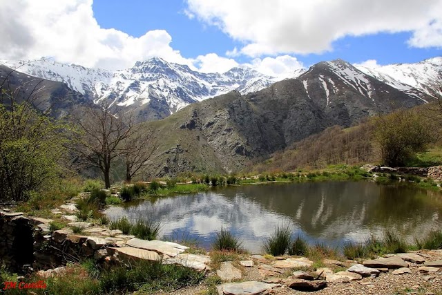
<instances>
[{"instance_id":1,"label":"big white cloud in upper left sky, above the snowy range","mask_svg":"<svg viewBox=\"0 0 442 295\"><path fill-rule=\"evenodd\" d=\"M162 57L193 67L170 43L165 30L133 37L104 29L93 16L92 0L1 1L0 58L53 57L60 62L108 69L128 68L135 61Z\"/></svg>"}]
</instances>

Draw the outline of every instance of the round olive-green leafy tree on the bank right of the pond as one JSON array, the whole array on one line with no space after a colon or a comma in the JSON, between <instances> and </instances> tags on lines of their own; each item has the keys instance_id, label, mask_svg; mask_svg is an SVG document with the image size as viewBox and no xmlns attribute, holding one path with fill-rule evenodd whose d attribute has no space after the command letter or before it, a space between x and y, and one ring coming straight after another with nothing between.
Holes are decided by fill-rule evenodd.
<instances>
[{"instance_id":1,"label":"round olive-green leafy tree on the bank right of the pond","mask_svg":"<svg viewBox=\"0 0 442 295\"><path fill-rule=\"evenodd\" d=\"M383 164L404 166L436 140L434 126L422 112L401 109L374 119L374 140Z\"/></svg>"}]
</instances>

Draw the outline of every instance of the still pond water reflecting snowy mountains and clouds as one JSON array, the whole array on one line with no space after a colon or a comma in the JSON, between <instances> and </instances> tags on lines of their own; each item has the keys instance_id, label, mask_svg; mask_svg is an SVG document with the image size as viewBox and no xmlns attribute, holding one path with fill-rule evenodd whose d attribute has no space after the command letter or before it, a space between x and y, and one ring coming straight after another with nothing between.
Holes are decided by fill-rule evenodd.
<instances>
[{"instance_id":1,"label":"still pond water reflecting snowy mountains and clouds","mask_svg":"<svg viewBox=\"0 0 442 295\"><path fill-rule=\"evenodd\" d=\"M289 222L294 235L339 246L363 242L385 229L412 242L442 228L442 194L405 184L312 182L227 187L204 193L158 198L129 207L111 207L108 216L160 221L160 236L198 238L210 248L221 227L259 253L277 225Z\"/></svg>"}]
</instances>

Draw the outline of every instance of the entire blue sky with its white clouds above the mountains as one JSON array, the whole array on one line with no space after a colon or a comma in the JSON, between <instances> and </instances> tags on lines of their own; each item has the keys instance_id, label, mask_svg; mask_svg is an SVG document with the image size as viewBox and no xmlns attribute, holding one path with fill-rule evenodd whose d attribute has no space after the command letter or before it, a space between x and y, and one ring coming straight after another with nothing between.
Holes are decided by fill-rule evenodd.
<instances>
[{"instance_id":1,"label":"entire blue sky with its white clouds above the mountains","mask_svg":"<svg viewBox=\"0 0 442 295\"><path fill-rule=\"evenodd\" d=\"M442 0L7 1L0 34L0 59L115 70L158 56L203 72L246 64L284 75L337 58L440 56Z\"/></svg>"}]
</instances>

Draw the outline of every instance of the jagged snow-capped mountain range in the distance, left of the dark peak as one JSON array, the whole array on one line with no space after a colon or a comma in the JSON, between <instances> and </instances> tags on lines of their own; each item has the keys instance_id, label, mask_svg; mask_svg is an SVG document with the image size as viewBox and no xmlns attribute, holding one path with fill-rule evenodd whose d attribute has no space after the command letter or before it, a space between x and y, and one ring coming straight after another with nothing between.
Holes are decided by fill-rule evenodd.
<instances>
[{"instance_id":1,"label":"jagged snow-capped mountain range in the distance, left of the dark peak","mask_svg":"<svg viewBox=\"0 0 442 295\"><path fill-rule=\"evenodd\" d=\"M162 114L154 115L153 119L229 91L236 90L242 94L259 91L277 80L247 66L238 66L223 74L199 73L189 66L169 63L158 57L137 61L133 68L114 71L55 61L34 61L22 65L19 61L5 60L0 64L19 67L17 71L35 77L64 82L95 103L108 99L117 108L131 106L144 109L148 105L160 108Z\"/></svg>"}]
</instances>

